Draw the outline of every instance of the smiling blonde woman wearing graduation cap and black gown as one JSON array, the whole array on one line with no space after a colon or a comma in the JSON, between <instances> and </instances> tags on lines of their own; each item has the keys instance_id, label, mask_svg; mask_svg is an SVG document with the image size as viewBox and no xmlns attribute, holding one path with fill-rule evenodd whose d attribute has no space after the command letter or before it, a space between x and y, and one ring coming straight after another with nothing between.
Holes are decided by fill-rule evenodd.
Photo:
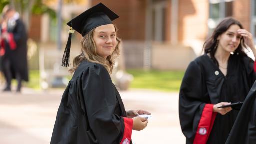
<instances>
[{"instance_id":1,"label":"smiling blonde woman wearing graduation cap and black gown","mask_svg":"<svg viewBox=\"0 0 256 144\"><path fill-rule=\"evenodd\" d=\"M147 126L144 110L125 111L110 73L120 40L112 20L119 16L102 3L67 23L79 32L81 54L73 60L72 79L63 93L50 143L132 143L133 130ZM62 66L69 65L70 29Z\"/></svg>"}]
</instances>

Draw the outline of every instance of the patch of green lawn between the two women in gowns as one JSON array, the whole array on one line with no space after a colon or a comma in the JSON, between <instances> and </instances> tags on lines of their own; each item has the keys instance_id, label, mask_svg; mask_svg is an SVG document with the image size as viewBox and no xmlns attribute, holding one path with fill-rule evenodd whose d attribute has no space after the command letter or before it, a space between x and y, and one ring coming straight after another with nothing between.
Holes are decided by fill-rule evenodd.
<instances>
[{"instance_id":1,"label":"patch of green lawn between the two women in gowns","mask_svg":"<svg viewBox=\"0 0 256 144\"><path fill-rule=\"evenodd\" d=\"M145 88L161 91L179 91L184 71L127 70L134 76L131 88Z\"/></svg>"}]
</instances>

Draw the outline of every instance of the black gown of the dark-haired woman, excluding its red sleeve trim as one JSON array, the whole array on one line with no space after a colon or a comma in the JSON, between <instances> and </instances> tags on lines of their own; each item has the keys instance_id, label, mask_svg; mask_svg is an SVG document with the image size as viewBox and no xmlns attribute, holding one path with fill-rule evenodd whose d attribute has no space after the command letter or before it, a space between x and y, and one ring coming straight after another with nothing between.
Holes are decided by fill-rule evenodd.
<instances>
[{"instance_id":1,"label":"black gown of the dark-haired woman, excluding its red sleeve trim","mask_svg":"<svg viewBox=\"0 0 256 144\"><path fill-rule=\"evenodd\" d=\"M248 56L230 54L226 76L206 54L189 64L179 94L179 119L186 143L193 143L205 104L244 101L256 79L253 64ZM236 110L217 114L207 143L224 143L237 114Z\"/></svg>"}]
</instances>

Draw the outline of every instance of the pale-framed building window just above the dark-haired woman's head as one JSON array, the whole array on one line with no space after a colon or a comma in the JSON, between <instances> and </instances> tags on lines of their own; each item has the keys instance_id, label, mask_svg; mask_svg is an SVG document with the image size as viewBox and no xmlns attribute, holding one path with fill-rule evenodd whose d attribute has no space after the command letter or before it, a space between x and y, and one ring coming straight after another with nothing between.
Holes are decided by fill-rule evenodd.
<instances>
[{"instance_id":1,"label":"pale-framed building window just above the dark-haired woman's head","mask_svg":"<svg viewBox=\"0 0 256 144\"><path fill-rule=\"evenodd\" d=\"M213 32L213 29L223 18L233 15L233 1L234 0L209 0L209 34Z\"/></svg>"}]
</instances>

